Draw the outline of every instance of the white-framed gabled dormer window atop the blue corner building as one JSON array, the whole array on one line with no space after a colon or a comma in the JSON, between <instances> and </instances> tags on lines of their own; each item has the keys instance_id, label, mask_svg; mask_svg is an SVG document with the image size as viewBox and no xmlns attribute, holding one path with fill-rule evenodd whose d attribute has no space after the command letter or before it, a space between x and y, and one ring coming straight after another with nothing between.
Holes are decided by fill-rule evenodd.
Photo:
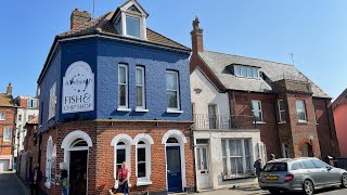
<instances>
[{"instance_id":1,"label":"white-framed gabled dormer window atop the blue corner building","mask_svg":"<svg viewBox=\"0 0 347 195\"><path fill-rule=\"evenodd\" d=\"M118 8L113 22L119 35L137 39L146 39L146 17L149 14L136 0Z\"/></svg>"}]
</instances>

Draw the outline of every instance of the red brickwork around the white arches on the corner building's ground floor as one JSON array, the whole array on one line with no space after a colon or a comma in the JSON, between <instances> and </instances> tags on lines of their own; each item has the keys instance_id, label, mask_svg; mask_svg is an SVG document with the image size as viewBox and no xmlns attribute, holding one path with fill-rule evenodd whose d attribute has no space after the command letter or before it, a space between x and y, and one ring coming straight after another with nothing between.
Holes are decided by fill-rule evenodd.
<instances>
[{"instance_id":1,"label":"red brickwork around the white arches on the corner building's ground floor","mask_svg":"<svg viewBox=\"0 0 347 195\"><path fill-rule=\"evenodd\" d=\"M46 151L49 136L52 136L53 144L56 144L56 173L60 173L59 164L64 159L64 151L61 144L64 138L75 130L81 130L89 134L92 139L93 146L89 150L89 164L88 164L88 194L106 194L106 192L115 185L114 180L114 147L111 146L112 140L119 133L126 133L132 139L140 133L150 134L154 144L151 147L152 156L152 185L136 186L136 146L131 146L131 177L130 183L132 185L132 193L143 192L162 192L166 191L166 162L165 162L165 146L162 144L163 135L172 129L178 129L187 136L188 143L185 144L185 179L187 185L190 187L195 186L194 160L193 148L190 144L190 130L188 129L191 123L189 122L97 122L97 121L80 121L61 123L55 129L49 130L42 134L42 158L41 170L44 176L46 172ZM44 182L44 181L43 181ZM42 182L42 183L43 183ZM43 187L43 186L42 186ZM61 194L60 187L51 185L48 190L43 187L49 194Z\"/></svg>"}]
</instances>

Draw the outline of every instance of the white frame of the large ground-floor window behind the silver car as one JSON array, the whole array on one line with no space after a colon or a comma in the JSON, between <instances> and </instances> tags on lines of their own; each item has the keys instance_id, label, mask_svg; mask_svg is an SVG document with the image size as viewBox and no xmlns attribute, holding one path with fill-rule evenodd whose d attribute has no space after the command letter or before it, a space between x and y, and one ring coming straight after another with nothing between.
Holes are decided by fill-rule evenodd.
<instances>
[{"instance_id":1,"label":"white frame of the large ground-floor window behind the silver car","mask_svg":"<svg viewBox=\"0 0 347 195\"><path fill-rule=\"evenodd\" d=\"M241 140L241 147L242 147L242 156L230 156L230 146L229 146L229 141L233 141L233 140ZM249 156L246 156L246 151L245 151L245 140L248 140L248 148L249 148ZM253 174L254 170L253 170L253 159L254 159L254 151L253 151L253 142L250 138L240 138L240 139L221 139L221 150L223 150L223 145L222 145L222 141L226 142L226 154L227 156L222 156L223 159L227 158L227 176L223 176L224 179L236 179L236 178L247 178L249 176ZM222 154L222 153L221 153ZM236 174L232 174L231 172L231 162L230 159L231 158L235 158L235 157L241 157L242 158L242 167L243 167L243 174L237 176ZM246 157L249 157L249 162L250 162L250 170L252 172L247 174L247 165L246 165ZM221 160L221 167L223 168L223 160ZM224 172L224 170L222 170L222 172Z\"/></svg>"}]
</instances>

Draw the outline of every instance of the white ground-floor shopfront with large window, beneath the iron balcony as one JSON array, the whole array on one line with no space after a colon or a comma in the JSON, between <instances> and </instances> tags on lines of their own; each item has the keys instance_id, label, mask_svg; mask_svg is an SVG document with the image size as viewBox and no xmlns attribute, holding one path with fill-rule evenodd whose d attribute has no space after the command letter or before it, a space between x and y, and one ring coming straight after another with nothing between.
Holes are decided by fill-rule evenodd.
<instances>
[{"instance_id":1,"label":"white ground-floor shopfront with large window, beneath the iron balcony","mask_svg":"<svg viewBox=\"0 0 347 195\"><path fill-rule=\"evenodd\" d=\"M256 181L254 161L267 160L259 130L194 130L197 191Z\"/></svg>"}]
</instances>

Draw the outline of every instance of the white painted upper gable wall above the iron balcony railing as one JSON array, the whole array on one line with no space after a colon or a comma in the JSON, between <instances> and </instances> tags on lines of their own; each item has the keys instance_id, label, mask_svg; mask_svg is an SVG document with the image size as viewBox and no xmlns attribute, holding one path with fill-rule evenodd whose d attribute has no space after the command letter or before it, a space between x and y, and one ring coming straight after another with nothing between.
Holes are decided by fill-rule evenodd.
<instances>
[{"instance_id":1,"label":"white painted upper gable wall above the iron balcony railing","mask_svg":"<svg viewBox=\"0 0 347 195\"><path fill-rule=\"evenodd\" d=\"M196 93L195 89L202 89ZM219 93L215 86L196 68L191 74L191 99L194 114L208 114L208 104L217 104L218 115L230 115L228 93Z\"/></svg>"}]
</instances>

